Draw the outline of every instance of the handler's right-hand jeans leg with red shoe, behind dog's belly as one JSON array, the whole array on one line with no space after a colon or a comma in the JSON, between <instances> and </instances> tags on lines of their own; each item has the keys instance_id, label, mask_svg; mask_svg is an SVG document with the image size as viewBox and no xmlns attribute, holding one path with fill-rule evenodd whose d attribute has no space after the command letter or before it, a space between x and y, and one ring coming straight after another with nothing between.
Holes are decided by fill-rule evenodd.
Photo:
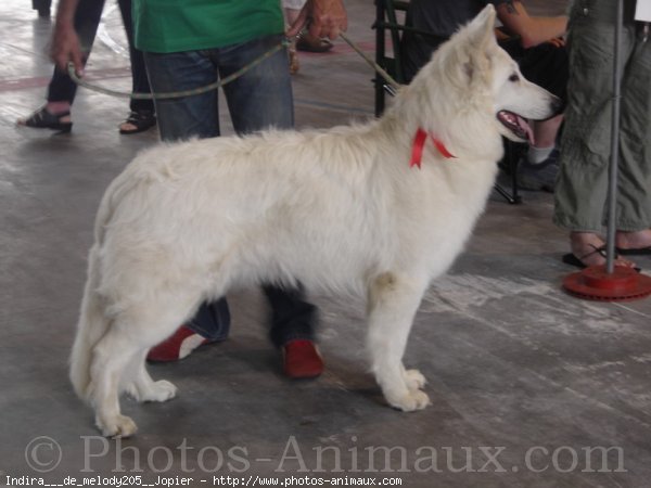
<instances>
[{"instance_id":1,"label":"handler's right-hand jeans leg with red shoe, behind dog's belly","mask_svg":"<svg viewBox=\"0 0 651 488\"><path fill-rule=\"evenodd\" d=\"M219 50L220 76L237 72L281 40L281 36L269 36ZM294 126L292 82L284 49L225 86L224 91L238 133ZM268 285L264 291L272 309L270 337L277 347L283 348L285 374L292 377L319 375L323 364L311 345L316 308L305 301L301 288Z\"/></svg>"}]
</instances>

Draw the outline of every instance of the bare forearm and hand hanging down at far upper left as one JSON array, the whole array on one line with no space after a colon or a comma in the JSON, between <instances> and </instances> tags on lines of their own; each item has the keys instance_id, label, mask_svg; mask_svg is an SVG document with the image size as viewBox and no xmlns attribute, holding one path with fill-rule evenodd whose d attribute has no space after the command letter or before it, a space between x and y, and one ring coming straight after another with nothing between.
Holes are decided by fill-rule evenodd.
<instances>
[{"instance_id":1,"label":"bare forearm and hand hanging down at far upper left","mask_svg":"<svg viewBox=\"0 0 651 488\"><path fill-rule=\"evenodd\" d=\"M84 56L79 38L75 31L75 11L77 4L84 0L60 0L56 9L56 23L54 34L52 35L52 46L50 56L61 69L67 69L67 64L72 61L75 65L75 72L81 75L84 70Z\"/></svg>"}]
</instances>

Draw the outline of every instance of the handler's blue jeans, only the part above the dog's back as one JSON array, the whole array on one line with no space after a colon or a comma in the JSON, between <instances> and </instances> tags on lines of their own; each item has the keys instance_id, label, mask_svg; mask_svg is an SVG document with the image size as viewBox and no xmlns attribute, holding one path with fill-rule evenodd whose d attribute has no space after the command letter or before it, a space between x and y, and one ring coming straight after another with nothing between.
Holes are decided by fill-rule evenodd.
<instances>
[{"instance_id":1,"label":"handler's blue jeans, only the part above the dog's back","mask_svg":"<svg viewBox=\"0 0 651 488\"><path fill-rule=\"evenodd\" d=\"M169 54L146 52L144 59L152 90L163 93L205 87L245 66L281 39L281 36L269 36L220 49ZM284 50L226 85L224 93L238 133L294 126L292 84ZM220 133L216 90L155 103L164 141L212 138Z\"/></svg>"}]
</instances>

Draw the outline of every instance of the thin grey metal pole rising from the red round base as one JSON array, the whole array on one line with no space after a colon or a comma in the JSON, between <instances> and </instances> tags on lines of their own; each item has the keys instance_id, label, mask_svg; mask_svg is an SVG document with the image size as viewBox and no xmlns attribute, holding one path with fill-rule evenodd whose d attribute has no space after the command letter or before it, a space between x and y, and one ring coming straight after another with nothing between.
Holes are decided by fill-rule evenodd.
<instances>
[{"instance_id":1,"label":"thin grey metal pole rising from the red round base","mask_svg":"<svg viewBox=\"0 0 651 488\"><path fill-rule=\"evenodd\" d=\"M615 17L615 46L613 57L613 112L611 124L611 160L608 185L608 230L605 241L605 267L612 274L615 270L615 233L617 231L617 166L620 160L620 102L622 65L620 62L622 25L624 23L624 0L617 0L617 14Z\"/></svg>"}]
</instances>

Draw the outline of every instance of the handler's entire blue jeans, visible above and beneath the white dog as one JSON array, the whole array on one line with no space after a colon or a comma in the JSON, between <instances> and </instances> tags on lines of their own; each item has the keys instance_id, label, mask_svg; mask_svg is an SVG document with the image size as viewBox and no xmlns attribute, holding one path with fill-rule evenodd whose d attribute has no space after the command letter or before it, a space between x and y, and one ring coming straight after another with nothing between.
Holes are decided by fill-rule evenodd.
<instances>
[{"instance_id":1,"label":"handler's entire blue jeans, visible above and beneath the white dog","mask_svg":"<svg viewBox=\"0 0 651 488\"><path fill-rule=\"evenodd\" d=\"M219 49L177 53L144 53L154 93L191 90L222 79L281 42L267 36ZM233 127L239 134L270 127L294 126L292 82L288 55L277 51L243 76L224 87ZM164 141L220 134L217 91L191 97L155 100L158 130ZM209 222L206 222L209 224ZM264 286L272 308L271 341L278 347L295 338L314 339L316 308L302 290ZM189 326L201 335L221 339L228 334L230 313L225 298L202 304Z\"/></svg>"}]
</instances>

